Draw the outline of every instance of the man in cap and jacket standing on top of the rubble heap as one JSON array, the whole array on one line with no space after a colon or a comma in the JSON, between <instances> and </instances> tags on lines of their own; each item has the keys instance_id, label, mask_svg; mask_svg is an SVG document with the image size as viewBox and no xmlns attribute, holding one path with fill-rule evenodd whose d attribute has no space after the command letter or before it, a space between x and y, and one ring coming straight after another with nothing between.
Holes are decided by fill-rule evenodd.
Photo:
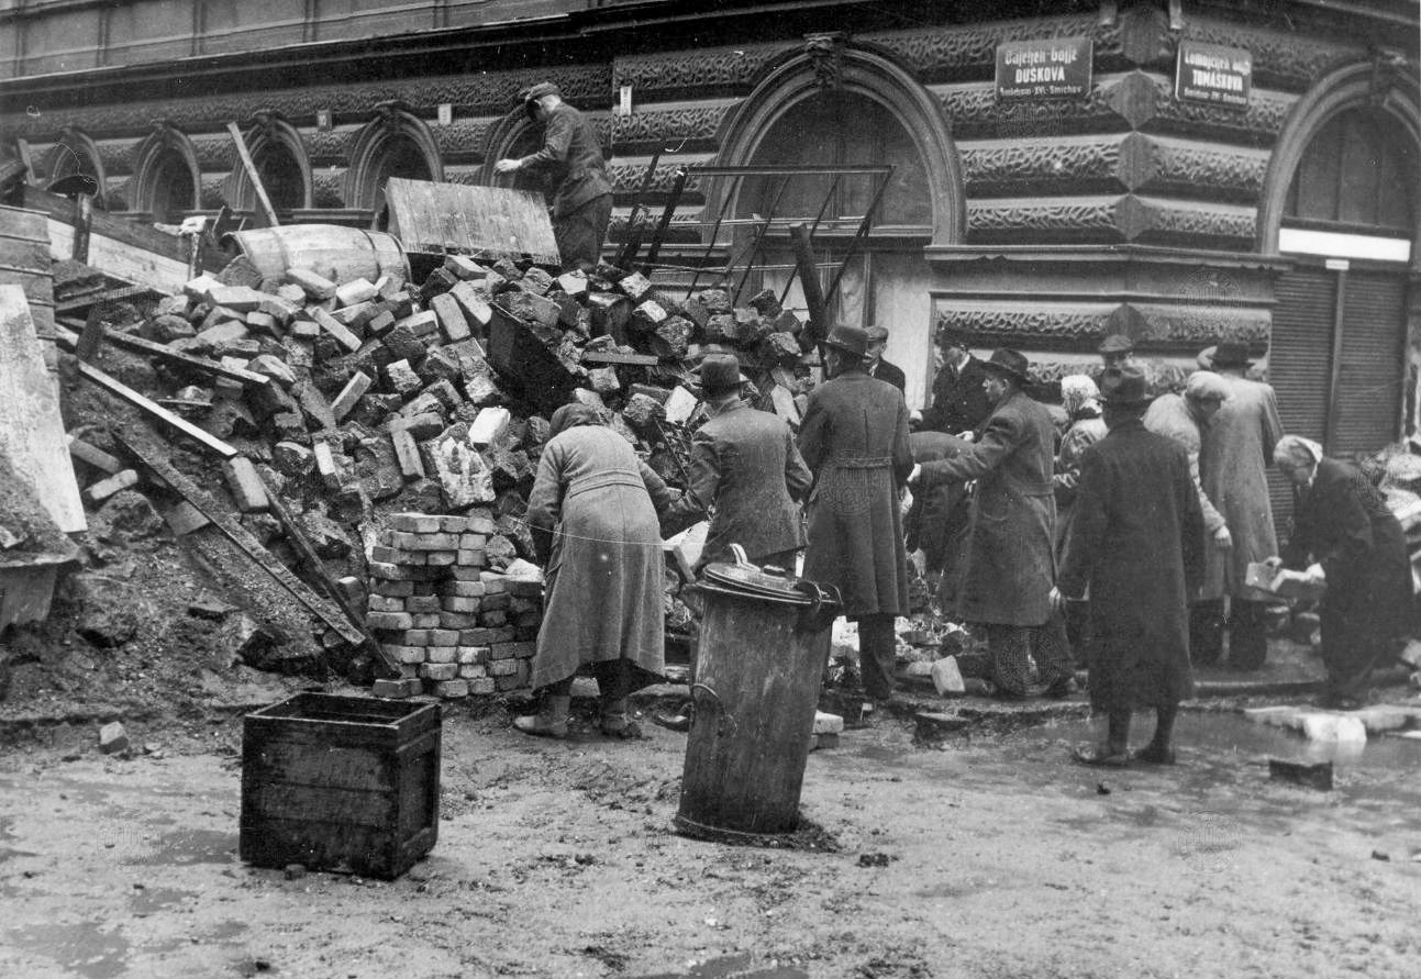
<instances>
[{"instance_id":1,"label":"man in cap and jacket standing on top of the rubble heap","mask_svg":"<svg viewBox=\"0 0 1421 979\"><path fill-rule=\"evenodd\" d=\"M607 223L612 215L612 185L607 162L591 121L563 101L549 81L523 94L529 117L544 125L543 148L522 159L500 159L495 173L522 169L551 171L557 180L553 196L553 236L563 269L590 271L601 259Z\"/></svg>"}]
</instances>

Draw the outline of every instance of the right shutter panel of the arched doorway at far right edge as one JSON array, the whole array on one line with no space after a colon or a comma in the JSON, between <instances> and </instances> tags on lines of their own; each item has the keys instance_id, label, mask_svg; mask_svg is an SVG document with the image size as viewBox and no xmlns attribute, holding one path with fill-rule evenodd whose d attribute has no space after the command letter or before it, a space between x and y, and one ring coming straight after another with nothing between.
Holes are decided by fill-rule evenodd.
<instances>
[{"instance_id":1,"label":"right shutter panel of the arched doorway at far right edge","mask_svg":"<svg viewBox=\"0 0 1421 979\"><path fill-rule=\"evenodd\" d=\"M1330 455L1371 453L1397 439L1404 377L1404 287L1397 274L1347 273Z\"/></svg>"}]
</instances>

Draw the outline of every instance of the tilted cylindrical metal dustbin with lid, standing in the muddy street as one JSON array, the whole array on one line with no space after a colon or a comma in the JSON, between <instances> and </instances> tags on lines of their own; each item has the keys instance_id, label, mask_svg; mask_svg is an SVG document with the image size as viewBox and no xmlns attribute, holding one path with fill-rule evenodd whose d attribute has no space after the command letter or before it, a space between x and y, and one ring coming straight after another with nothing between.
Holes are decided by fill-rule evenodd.
<instances>
[{"instance_id":1,"label":"tilted cylindrical metal dustbin with lid, standing in the muddy street","mask_svg":"<svg viewBox=\"0 0 1421 979\"><path fill-rule=\"evenodd\" d=\"M679 833L753 840L799 826L838 591L745 561L710 564L691 685Z\"/></svg>"}]
</instances>

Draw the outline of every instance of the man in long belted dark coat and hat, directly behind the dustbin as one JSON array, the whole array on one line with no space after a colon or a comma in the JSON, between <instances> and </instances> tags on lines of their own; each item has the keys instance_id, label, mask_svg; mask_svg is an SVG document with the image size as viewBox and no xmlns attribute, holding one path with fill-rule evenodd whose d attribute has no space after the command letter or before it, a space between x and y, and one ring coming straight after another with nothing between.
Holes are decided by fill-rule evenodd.
<instances>
[{"instance_id":1,"label":"man in long belted dark coat and hat, directly behind the dustbin","mask_svg":"<svg viewBox=\"0 0 1421 979\"><path fill-rule=\"evenodd\" d=\"M864 372L868 334L836 327L824 342L830 379L810 392L799 448L814 472L804 577L836 585L858 622L864 691L892 695L892 621L908 614L899 489L912 472L902 392Z\"/></svg>"}]
</instances>

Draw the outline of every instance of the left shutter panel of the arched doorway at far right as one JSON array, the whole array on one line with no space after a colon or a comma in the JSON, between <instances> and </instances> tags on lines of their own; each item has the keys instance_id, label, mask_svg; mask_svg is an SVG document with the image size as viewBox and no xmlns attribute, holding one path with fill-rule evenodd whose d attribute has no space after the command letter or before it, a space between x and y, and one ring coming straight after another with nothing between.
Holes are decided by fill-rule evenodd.
<instances>
[{"instance_id":1,"label":"left shutter panel of the arched doorway at far right","mask_svg":"<svg viewBox=\"0 0 1421 979\"><path fill-rule=\"evenodd\" d=\"M1322 442L1327 429L1327 392L1331 386L1336 273L1297 266L1279 278L1276 297L1268 350L1268 382L1277 394L1283 431ZM1282 530L1293 513L1293 493L1272 465L1268 483L1273 523Z\"/></svg>"}]
</instances>

